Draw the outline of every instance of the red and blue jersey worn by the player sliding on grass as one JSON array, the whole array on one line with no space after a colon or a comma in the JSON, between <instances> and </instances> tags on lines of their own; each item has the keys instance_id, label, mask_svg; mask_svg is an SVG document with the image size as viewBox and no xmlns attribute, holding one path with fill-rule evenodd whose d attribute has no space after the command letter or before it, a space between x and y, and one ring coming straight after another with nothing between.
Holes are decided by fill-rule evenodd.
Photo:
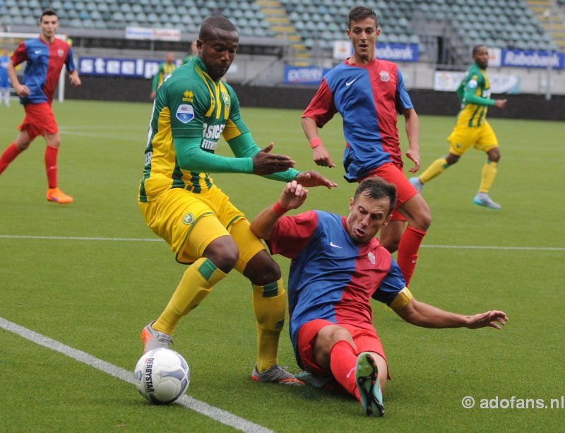
<instances>
[{"instance_id":1,"label":"red and blue jersey worn by the player sliding on grass","mask_svg":"<svg viewBox=\"0 0 565 433\"><path fill-rule=\"evenodd\" d=\"M370 299L390 305L405 287L400 268L376 238L358 244L346 218L311 210L279 218L269 242L292 259L288 276L290 338L297 353L300 327L314 319L373 328Z\"/></svg>"}]
</instances>

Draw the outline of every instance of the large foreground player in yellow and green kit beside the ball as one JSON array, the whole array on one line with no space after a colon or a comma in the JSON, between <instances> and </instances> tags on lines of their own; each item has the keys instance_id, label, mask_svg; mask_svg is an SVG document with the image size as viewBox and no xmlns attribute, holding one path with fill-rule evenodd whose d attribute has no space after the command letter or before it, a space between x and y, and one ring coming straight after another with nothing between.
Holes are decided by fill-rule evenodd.
<instances>
[{"instance_id":1,"label":"large foreground player in yellow and green kit beside the ball","mask_svg":"<svg viewBox=\"0 0 565 433\"><path fill-rule=\"evenodd\" d=\"M253 286L258 353L252 379L301 384L277 360L286 311L280 268L209 173L259 174L284 182L295 179L303 186L337 185L317 172L297 172L290 157L270 153L273 143L263 150L256 146L234 90L220 79L232 64L238 42L230 20L206 18L198 35L198 56L157 90L138 201L147 225L167 241L179 263L190 266L165 310L141 336L145 351L168 347L182 316L235 268ZM220 136L236 158L214 154Z\"/></svg>"}]
</instances>

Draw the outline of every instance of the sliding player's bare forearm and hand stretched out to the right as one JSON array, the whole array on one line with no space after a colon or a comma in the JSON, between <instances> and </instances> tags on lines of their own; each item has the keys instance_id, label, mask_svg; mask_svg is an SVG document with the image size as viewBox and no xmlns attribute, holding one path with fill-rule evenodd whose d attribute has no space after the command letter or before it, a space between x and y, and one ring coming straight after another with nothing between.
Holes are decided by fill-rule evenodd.
<instances>
[{"instance_id":1,"label":"sliding player's bare forearm and hand stretched out to the right","mask_svg":"<svg viewBox=\"0 0 565 433\"><path fill-rule=\"evenodd\" d=\"M446 312L429 304L424 304L412 298L403 309L396 311L398 316L412 325L424 328L484 328L490 326L500 329L504 326L508 317L504 312L492 310L490 312L464 316Z\"/></svg>"}]
</instances>

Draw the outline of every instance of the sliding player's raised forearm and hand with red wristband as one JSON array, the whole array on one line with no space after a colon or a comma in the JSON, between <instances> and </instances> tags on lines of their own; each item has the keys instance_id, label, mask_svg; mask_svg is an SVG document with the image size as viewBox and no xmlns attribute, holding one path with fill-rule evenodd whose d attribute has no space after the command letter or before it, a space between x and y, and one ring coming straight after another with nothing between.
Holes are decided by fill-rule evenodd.
<instances>
[{"instance_id":1,"label":"sliding player's raised forearm and hand with red wristband","mask_svg":"<svg viewBox=\"0 0 565 433\"><path fill-rule=\"evenodd\" d=\"M251 232L256 237L270 240L277 220L290 209L297 209L308 197L308 190L295 180L288 182L273 206L268 206L251 221Z\"/></svg>"}]
</instances>

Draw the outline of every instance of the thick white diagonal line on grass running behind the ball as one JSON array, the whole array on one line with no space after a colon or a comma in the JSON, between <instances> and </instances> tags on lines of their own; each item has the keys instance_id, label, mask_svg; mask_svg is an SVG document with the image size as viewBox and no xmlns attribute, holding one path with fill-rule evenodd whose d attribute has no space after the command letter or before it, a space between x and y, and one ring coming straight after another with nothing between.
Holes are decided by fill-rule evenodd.
<instances>
[{"instance_id":1,"label":"thick white diagonal line on grass running behind the ball","mask_svg":"<svg viewBox=\"0 0 565 433\"><path fill-rule=\"evenodd\" d=\"M95 369L98 369L101 372L105 372L110 376L117 377L118 379L121 379L129 384L135 385L133 372L129 372L126 369L117 367L117 365L100 360L97 357L93 357L93 355L89 355L88 353L83 352L82 350L73 349L68 345L59 343L59 341L57 340L42 336L40 333L31 331L28 328L23 328L23 326L14 324L13 322L8 321L2 317L0 317L0 327L6 329L6 331L16 333L18 334L18 336L30 340L33 343L42 345L48 349L55 350L56 352L60 352L63 355L73 358L73 360L83 362L84 364L90 365L90 367L94 367ZM222 424L229 425L230 427L234 427L234 429L241 430L242 432L273 433L273 430L255 424L254 422L244 420L243 418L240 418L237 415L229 413L225 410L215 408L208 403L196 400L196 398L183 396L179 399L179 401L177 401L177 403L184 406L185 408L189 408L206 417L221 422Z\"/></svg>"}]
</instances>

